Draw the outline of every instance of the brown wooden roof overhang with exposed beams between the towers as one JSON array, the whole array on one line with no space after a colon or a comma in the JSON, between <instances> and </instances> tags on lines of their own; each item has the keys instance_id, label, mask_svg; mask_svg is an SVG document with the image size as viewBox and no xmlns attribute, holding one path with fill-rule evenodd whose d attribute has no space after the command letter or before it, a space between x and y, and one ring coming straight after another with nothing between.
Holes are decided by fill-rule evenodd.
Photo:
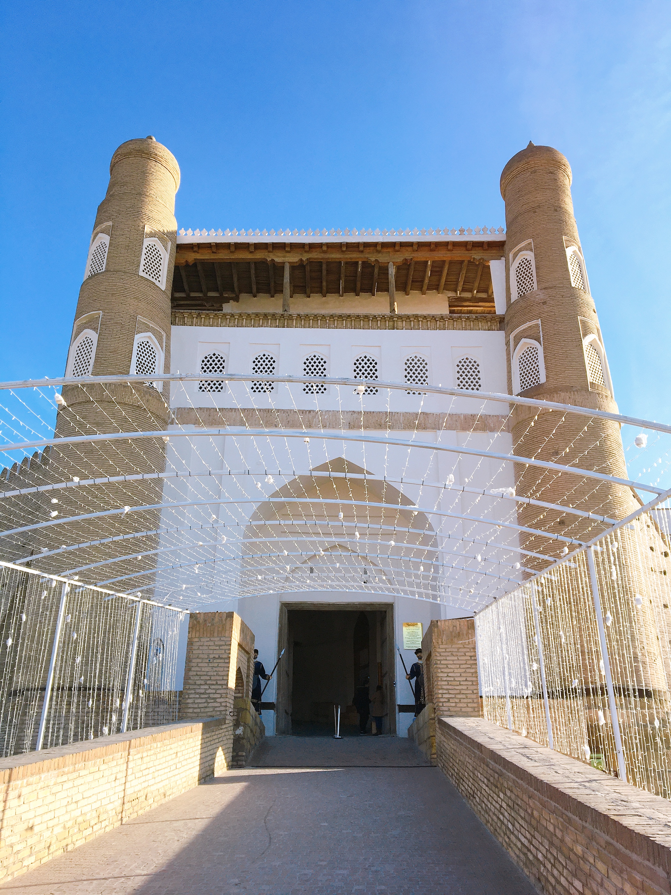
<instances>
[{"instance_id":1,"label":"brown wooden roof overhang with exposed beams between the towers","mask_svg":"<svg viewBox=\"0 0 671 895\"><path fill-rule=\"evenodd\" d=\"M177 244L172 307L212 311L239 301L241 294L282 296L286 271L289 298L388 293L391 300L394 293L434 293L448 299L450 313L493 314L489 261L500 259L504 247L498 237L380 243L208 243L201 238Z\"/></svg>"}]
</instances>

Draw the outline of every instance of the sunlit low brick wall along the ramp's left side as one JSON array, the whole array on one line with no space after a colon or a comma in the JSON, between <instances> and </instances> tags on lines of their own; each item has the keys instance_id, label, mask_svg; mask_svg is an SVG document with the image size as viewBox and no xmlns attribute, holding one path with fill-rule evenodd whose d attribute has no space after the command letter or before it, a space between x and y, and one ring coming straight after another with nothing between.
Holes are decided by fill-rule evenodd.
<instances>
[{"instance_id":1,"label":"sunlit low brick wall along the ramp's left side","mask_svg":"<svg viewBox=\"0 0 671 895\"><path fill-rule=\"evenodd\" d=\"M223 738L208 718L0 759L0 880L222 773Z\"/></svg>"}]
</instances>

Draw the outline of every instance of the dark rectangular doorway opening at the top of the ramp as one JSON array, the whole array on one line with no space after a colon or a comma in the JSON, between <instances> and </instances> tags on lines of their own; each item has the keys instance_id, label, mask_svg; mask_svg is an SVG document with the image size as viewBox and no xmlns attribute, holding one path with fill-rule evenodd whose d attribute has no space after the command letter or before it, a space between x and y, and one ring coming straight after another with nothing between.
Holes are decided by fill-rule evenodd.
<instances>
[{"instance_id":1,"label":"dark rectangular doorway opening at the top of the ramp","mask_svg":"<svg viewBox=\"0 0 671 895\"><path fill-rule=\"evenodd\" d=\"M283 723L277 724L276 732L333 736L334 706L340 705L341 736L358 735L359 715L352 697L369 678L370 695L380 684L386 696L384 733L395 733L395 687L389 675L389 669L394 669L393 654L389 656L394 638L388 634L393 607L299 606L283 604L285 612L280 614L280 649L286 647L287 661L284 686L279 686L278 679L276 718Z\"/></svg>"}]
</instances>

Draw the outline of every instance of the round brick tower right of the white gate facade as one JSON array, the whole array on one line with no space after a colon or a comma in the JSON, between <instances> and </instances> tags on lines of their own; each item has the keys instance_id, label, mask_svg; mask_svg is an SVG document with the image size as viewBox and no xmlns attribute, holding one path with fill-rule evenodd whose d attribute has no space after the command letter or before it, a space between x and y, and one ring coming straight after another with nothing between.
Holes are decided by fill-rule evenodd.
<instances>
[{"instance_id":1,"label":"round brick tower right of the white gate facade","mask_svg":"<svg viewBox=\"0 0 671 895\"><path fill-rule=\"evenodd\" d=\"M507 228L508 388L512 395L617 413L599 319L573 217L571 179L571 167L560 152L532 143L510 159L501 175ZM513 443L518 456L628 478L616 422L516 407ZM518 465L515 481L519 495L577 507L611 519L622 519L640 507L633 491L627 487L612 482L584 481L570 473L560 475ZM519 507L517 512L522 525L581 540L589 541L607 528L593 520L542 507ZM654 614L658 608L648 599L652 594L647 594L641 553L633 534L624 529L617 538L619 567L624 570L618 586L619 592L624 593L625 617L620 613L616 624L607 629L616 692L624 698L632 693L633 687L639 693L655 690L666 703L669 663L655 634ZM563 545L558 543L553 549L552 541L546 538L524 535L522 546L558 556ZM663 547L661 542L659 546ZM533 561L527 565L532 566ZM539 569L543 567L544 563L538 564ZM613 586L609 576L599 573L604 614L607 606L613 605ZM639 609L634 602L637 593L646 594ZM576 593L571 599L581 600L584 596L582 592ZM584 650L582 661L585 669L594 664L593 657ZM561 669L560 656L556 665ZM568 688L570 684L565 681L561 686ZM647 736L643 731L641 737L644 734ZM600 748L611 751L613 746L601 743Z\"/></svg>"}]
</instances>

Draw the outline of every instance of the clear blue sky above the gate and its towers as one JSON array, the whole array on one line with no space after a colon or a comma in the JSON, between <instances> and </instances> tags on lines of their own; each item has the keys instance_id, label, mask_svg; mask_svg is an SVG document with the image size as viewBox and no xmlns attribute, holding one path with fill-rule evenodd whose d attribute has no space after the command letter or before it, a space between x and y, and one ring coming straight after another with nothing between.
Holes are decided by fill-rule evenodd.
<instances>
[{"instance_id":1,"label":"clear blue sky above the gate and its towers","mask_svg":"<svg viewBox=\"0 0 671 895\"><path fill-rule=\"evenodd\" d=\"M623 413L668 421L671 4L4 4L0 378L59 376L109 159L151 133L180 226L498 226L573 167Z\"/></svg>"}]
</instances>

